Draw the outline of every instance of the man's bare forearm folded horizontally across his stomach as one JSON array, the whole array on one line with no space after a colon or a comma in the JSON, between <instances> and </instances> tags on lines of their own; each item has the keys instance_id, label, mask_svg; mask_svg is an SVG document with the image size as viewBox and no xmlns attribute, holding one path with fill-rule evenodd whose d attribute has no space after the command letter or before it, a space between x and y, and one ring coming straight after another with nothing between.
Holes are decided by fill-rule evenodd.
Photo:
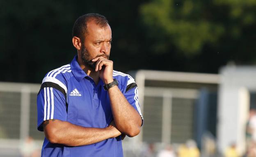
<instances>
[{"instance_id":1,"label":"man's bare forearm folded horizontally across his stomach","mask_svg":"<svg viewBox=\"0 0 256 157\"><path fill-rule=\"evenodd\" d=\"M114 127L86 128L59 120L48 120L44 125L44 133L51 143L67 146L94 144L121 134Z\"/></svg>"}]
</instances>

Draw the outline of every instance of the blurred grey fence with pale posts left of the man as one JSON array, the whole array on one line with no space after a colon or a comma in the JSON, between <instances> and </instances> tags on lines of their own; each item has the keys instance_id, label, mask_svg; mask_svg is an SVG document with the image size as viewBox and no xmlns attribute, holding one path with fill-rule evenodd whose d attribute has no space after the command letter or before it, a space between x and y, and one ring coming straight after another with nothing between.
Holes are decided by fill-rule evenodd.
<instances>
[{"instance_id":1,"label":"blurred grey fence with pale posts left of the man","mask_svg":"<svg viewBox=\"0 0 256 157\"><path fill-rule=\"evenodd\" d=\"M0 156L17 157L22 142L32 137L42 144L37 131L37 92L40 84L0 82Z\"/></svg>"}]
</instances>

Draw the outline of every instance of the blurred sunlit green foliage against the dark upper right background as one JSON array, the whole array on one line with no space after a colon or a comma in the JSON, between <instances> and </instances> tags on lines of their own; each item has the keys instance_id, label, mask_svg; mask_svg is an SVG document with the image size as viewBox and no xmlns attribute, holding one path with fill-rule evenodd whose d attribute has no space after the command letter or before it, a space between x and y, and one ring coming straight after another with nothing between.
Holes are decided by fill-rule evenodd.
<instances>
[{"instance_id":1,"label":"blurred sunlit green foliage against the dark upper right background","mask_svg":"<svg viewBox=\"0 0 256 157\"><path fill-rule=\"evenodd\" d=\"M180 53L193 56L201 53L206 44L218 45L227 33L241 37L243 26L255 20L253 9L247 10L252 6L256 6L255 0L152 0L143 4L140 11L151 38L155 39L155 53L168 53L173 45ZM218 12L225 7L226 10Z\"/></svg>"}]
</instances>

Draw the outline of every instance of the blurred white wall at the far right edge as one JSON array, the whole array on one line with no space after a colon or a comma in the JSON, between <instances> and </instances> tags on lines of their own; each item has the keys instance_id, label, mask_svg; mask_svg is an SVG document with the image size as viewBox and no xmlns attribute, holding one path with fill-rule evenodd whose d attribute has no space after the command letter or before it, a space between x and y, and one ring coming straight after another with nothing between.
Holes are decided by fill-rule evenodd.
<instances>
[{"instance_id":1,"label":"blurred white wall at the far right edge","mask_svg":"<svg viewBox=\"0 0 256 157\"><path fill-rule=\"evenodd\" d=\"M223 153L236 143L245 153L245 129L249 114L249 91L256 91L256 67L227 66L220 71L217 146Z\"/></svg>"}]
</instances>

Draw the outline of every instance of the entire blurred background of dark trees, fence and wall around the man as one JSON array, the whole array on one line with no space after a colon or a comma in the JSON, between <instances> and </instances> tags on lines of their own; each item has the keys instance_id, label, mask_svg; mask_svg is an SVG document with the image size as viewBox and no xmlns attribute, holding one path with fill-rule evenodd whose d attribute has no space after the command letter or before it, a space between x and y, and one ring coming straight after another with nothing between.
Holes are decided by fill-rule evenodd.
<instances>
[{"instance_id":1,"label":"entire blurred background of dark trees, fence and wall around the man","mask_svg":"<svg viewBox=\"0 0 256 157\"><path fill-rule=\"evenodd\" d=\"M1 157L40 156L37 92L85 13L108 19L114 69L139 87L125 157L256 157L255 0L0 0Z\"/></svg>"}]
</instances>

